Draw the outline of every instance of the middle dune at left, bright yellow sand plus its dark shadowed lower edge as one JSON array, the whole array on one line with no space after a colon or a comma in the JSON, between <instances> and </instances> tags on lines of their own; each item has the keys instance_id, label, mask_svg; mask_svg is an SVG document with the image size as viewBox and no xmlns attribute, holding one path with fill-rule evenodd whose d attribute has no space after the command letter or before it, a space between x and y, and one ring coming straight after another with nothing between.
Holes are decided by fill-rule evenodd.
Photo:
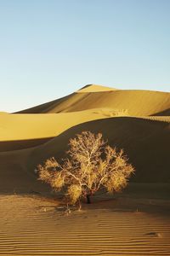
<instances>
[{"instance_id":1,"label":"middle dune at left, bright yellow sand plus its dark shadowed lower edge","mask_svg":"<svg viewBox=\"0 0 170 256\"><path fill-rule=\"evenodd\" d=\"M0 114L0 151L37 146L71 126L115 114L108 108L71 113Z\"/></svg>"}]
</instances>

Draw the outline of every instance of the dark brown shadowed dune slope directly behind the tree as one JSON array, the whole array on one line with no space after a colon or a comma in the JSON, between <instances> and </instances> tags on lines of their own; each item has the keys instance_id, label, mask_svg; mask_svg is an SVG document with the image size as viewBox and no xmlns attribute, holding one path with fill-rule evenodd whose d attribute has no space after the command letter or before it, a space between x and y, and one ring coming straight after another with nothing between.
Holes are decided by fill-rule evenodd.
<instances>
[{"instance_id":1,"label":"dark brown shadowed dune slope directly behind the tree","mask_svg":"<svg viewBox=\"0 0 170 256\"><path fill-rule=\"evenodd\" d=\"M34 169L48 157L65 157L68 140L81 131L102 132L111 146L124 148L135 166L135 182L170 182L170 124L150 119L117 117L98 119L71 127L36 148L0 153L0 187L38 189ZM12 182L11 182L12 181Z\"/></svg>"}]
</instances>

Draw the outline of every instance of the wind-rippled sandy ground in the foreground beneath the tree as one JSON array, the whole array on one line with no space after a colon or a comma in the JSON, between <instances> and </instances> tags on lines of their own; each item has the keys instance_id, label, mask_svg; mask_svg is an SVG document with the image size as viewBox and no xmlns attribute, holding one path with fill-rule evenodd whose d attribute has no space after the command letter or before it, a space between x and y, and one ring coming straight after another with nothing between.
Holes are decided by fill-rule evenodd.
<instances>
[{"instance_id":1,"label":"wind-rippled sandy ground in the foreground beneath the tree","mask_svg":"<svg viewBox=\"0 0 170 256\"><path fill-rule=\"evenodd\" d=\"M129 188L71 213L54 195L0 195L0 255L170 255L169 185Z\"/></svg>"}]
</instances>

